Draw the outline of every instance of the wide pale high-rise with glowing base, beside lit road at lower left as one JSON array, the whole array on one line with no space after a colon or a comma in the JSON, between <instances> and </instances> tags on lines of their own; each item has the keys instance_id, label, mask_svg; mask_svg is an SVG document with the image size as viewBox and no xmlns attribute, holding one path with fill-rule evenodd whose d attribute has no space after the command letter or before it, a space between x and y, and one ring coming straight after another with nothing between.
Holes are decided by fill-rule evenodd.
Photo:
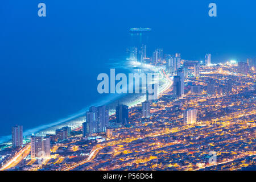
<instances>
[{"instance_id":1,"label":"wide pale high-rise with glowing base, beside lit road at lower left","mask_svg":"<svg viewBox=\"0 0 256 182\"><path fill-rule=\"evenodd\" d=\"M31 159L51 158L51 146L49 137L31 137Z\"/></svg>"}]
</instances>

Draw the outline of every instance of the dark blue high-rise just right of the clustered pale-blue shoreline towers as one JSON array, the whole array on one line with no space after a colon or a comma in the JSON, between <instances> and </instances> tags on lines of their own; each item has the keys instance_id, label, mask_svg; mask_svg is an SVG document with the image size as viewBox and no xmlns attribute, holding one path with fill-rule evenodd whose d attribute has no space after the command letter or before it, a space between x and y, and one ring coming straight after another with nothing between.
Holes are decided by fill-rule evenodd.
<instances>
[{"instance_id":1,"label":"dark blue high-rise just right of the clustered pale-blue shoreline towers","mask_svg":"<svg viewBox=\"0 0 256 182\"><path fill-rule=\"evenodd\" d=\"M129 110L128 106L118 104L115 108L115 116L117 125L126 125L129 123Z\"/></svg>"}]
</instances>

